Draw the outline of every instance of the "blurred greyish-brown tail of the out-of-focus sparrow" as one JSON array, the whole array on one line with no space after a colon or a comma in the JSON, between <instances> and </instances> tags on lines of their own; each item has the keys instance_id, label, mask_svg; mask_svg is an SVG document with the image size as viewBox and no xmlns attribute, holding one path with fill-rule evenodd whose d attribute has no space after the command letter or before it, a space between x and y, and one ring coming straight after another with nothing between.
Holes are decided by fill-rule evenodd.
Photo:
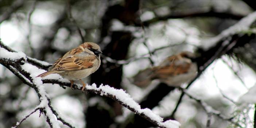
<instances>
[{"instance_id":1,"label":"blurred greyish-brown tail of the out-of-focus sparrow","mask_svg":"<svg viewBox=\"0 0 256 128\"><path fill-rule=\"evenodd\" d=\"M153 80L152 74L153 74L152 68L147 68L142 71L139 71L139 73L133 77L133 84L141 88L147 87L148 85L151 84L151 81Z\"/></svg>"}]
</instances>

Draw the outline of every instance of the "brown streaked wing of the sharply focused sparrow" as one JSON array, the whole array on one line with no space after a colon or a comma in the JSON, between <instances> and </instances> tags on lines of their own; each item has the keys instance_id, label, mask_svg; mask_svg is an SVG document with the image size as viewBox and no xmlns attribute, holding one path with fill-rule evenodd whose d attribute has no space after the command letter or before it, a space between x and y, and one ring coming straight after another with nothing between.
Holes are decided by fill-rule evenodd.
<instances>
[{"instance_id":1,"label":"brown streaked wing of the sharply focused sparrow","mask_svg":"<svg viewBox=\"0 0 256 128\"><path fill-rule=\"evenodd\" d=\"M85 51L80 51L79 49L73 49L69 51L69 53L73 53L70 56L64 55L64 59L57 60L54 64L52 70L81 70L88 69L93 67L94 61L96 61L96 56Z\"/></svg>"}]
</instances>

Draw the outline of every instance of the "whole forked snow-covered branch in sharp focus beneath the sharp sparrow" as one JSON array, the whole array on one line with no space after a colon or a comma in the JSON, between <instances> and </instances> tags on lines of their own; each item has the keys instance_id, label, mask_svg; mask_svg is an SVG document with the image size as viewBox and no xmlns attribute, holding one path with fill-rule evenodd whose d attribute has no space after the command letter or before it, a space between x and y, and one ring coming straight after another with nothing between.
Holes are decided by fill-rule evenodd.
<instances>
[{"instance_id":1,"label":"whole forked snow-covered branch in sharp focus beneath the sharp sparrow","mask_svg":"<svg viewBox=\"0 0 256 128\"><path fill-rule=\"evenodd\" d=\"M13 72L16 76L18 76L25 84L28 84L32 87L36 93L38 94L40 104L36 108L42 108L43 113L46 115L46 121L50 125L51 128L59 128L58 122L55 120L54 115L57 117L59 121L63 124L69 126L70 128L74 128L71 123L67 123L67 121L63 120L61 116L57 113L56 110L53 109L51 105L50 98L44 89L44 83L51 84L59 84L61 86L70 86L70 82L67 79L61 78L58 74L51 74L47 77L40 78L36 77L38 74L43 73L45 70L39 69L36 65L40 63L39 61L29 58L30 60L35 61L36 63L28 63L28 57L22 52L12 52L13 50L7 48L4 49L3 43L1 43L1 56L0 63L7 67L10 71ZM4 46L6 47L6 46ZM45 65L45 63L40 63L40 65ZM74 89L81 89L82 85L74 84ZM98 94L101 96L109 97L116 102L119 102L124 107L133 111L137 115L144 117L151 123L155 124L161 128L178 128L180 126L178 121L167 120L163 121L163 118L156 115L150 109L145 108L141 109L140 105L135 102L131 96L125 93L122 89L115 89L108 85L100 85L99 87L96 84L87 85L86 91L94 94ZM32 113L31 113L32 114ZM24 119L25 120L25 119Z\"/></svg>"}]
</instances>

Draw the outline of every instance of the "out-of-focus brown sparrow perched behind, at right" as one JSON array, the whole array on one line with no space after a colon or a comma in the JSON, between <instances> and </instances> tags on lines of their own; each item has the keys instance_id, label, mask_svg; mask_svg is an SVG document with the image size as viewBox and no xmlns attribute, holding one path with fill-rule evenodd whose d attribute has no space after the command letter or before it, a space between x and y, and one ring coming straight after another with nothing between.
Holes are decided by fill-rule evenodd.
<instances>
[{"instance_id":1,"label":"out-of-focus brown sparrow perched behind, at right","mask_svg":"<svg viewBox=\"0 0 256 128\"><path fill-rule=\"evenodd\" d=\"M188 51L172 55L164 59L159 66L139 71L133 77L133 83L146 87L152 80L159 79L169 86L179 87L196 77L198 68L195 59L196 55Z\"/></svg>"}]
</instances>

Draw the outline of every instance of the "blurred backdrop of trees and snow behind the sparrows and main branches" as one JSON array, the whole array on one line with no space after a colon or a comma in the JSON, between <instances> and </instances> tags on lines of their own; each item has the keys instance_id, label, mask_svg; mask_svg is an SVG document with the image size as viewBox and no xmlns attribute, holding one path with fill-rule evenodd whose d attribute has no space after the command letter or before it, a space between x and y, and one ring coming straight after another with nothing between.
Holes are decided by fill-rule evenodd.
<instances>
[{"instance_id":1,"label":"blurred backdrop of trees and snow behind the sparrows and main branches","mask_svg":"<svg viewBox=\"0 0 256 128\"><path fill-rule=\"evenodd\" d=\"M195 100L184 96L173 113L181 91L157 80L139 88L130 79L170 55L202 54L199 48L217 46L203 40L255 10L253 0L0 0L0 38L13 50L49 63L83 42L95 42L103 51L101 67L84 81L124 89L142 108L179 121L181 128L204 128L207 113ZM254 36L232 49L232 57L216 59L188 90L244 128L253 127L255 105L237 102L256 84L255 42ZM35 90L0 68L0 128L10 128L39 100ZM155 127L109 98L58 85L45 88L54 107L77 128ZM49 125L36 112L20 127ZM213 115L211 127L237 126Z\"/></svg>"}]
</instances>

